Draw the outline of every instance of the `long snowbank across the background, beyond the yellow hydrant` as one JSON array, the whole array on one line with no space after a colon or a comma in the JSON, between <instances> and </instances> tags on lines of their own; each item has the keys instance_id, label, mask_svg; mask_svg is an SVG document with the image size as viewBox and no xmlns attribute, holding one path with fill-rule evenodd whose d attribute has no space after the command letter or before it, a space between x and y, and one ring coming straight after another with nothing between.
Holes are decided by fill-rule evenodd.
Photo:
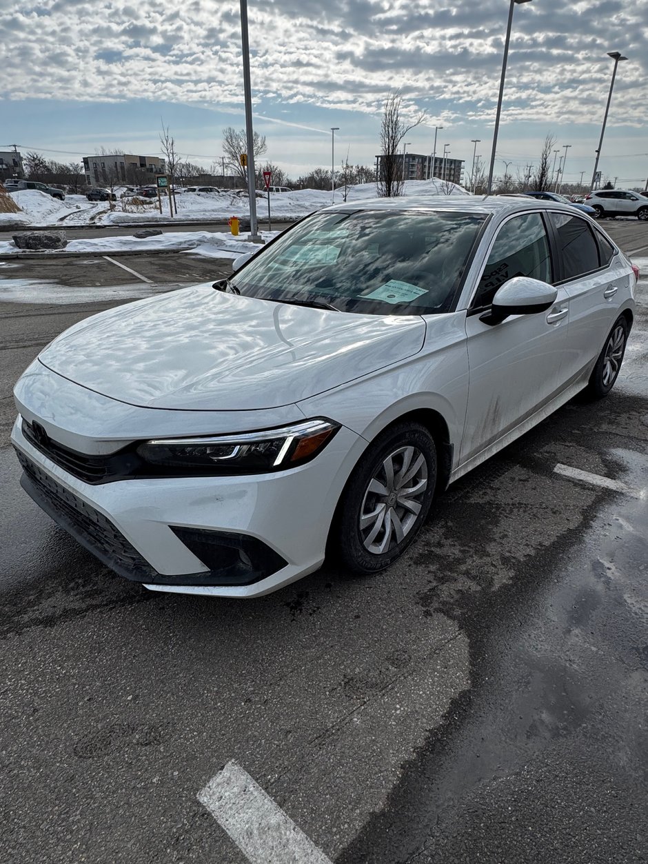
<instances>
[{"instance_id":1,"label":"long snowbank across the background, beyond the yellow hydrant","mask_svg":"<svg viewBox=\"0 0 648 864\"><path fill-rule=\"evenodd\" d=\"M118 193L119 190L116 190ZM410 180L404 184L404 195L467 195L467 191L453 183L443 183L438 180ZM340 187L335 190L334 202L340 204L345 200L360 201L377 198L375 183L364 183L360 186L350 186L346 190ZM52 198L44 192L35 189L24 189L12 192L11 197L21 207L22 214L0 213L0 226L3 223L16 225L18 221L31 226L66 226L80 225L134 225L142 222L169 221L168 199L162 199L162 213L157 200L149 199L143 204L133 204L127 198L118 198L116 209L111 211L105 201L91 202L85 195L67 195L65 201ZM275 219L298 219L314 210L331 204L330 190L297 189L295 192L270 194L270 213ZM205 219L229 219L230 216L249 216L250 207L247 195L243 190L232 190L220 194L206 192L180 192L175 195L178 213L175 218L182 221L203 221ZM267 219L267 198L257 197L257 215L260 222Z\"/></svg>"}]
</instances>

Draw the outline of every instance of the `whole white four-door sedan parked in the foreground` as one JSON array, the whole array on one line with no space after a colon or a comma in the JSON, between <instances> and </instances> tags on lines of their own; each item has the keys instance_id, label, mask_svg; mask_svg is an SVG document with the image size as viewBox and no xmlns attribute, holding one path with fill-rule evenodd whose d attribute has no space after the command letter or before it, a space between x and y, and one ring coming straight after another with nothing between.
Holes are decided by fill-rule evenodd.
<instances>
[{"instance_id":1,"label":"whole white four-door sedan parked in the foreground","mask_svg":"<svg viewBox=\"0 0 648 864\"><path fill-rule=\"evenodd\" d=\"M607 395L638 279L573 207L505 197L334 206L236 264L81 321L16 384L22 485L146 588L389 566L448 483Z\"/></svg>"}]
</instances>

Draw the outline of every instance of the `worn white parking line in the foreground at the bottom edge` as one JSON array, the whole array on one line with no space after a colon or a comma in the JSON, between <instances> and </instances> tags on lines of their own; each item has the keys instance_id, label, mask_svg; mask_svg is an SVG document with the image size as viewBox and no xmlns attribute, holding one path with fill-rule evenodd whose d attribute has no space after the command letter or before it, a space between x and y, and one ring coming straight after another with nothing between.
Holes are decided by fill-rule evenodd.
<instances>
[{"instance_id":1,"label":"worn white parking line in the foreground at the bottom edge","mask_svg":"<svg viewBox=\"0 0 648 864\"><path fill-rule=\"evenodd\" d=\"M251 864L331 864L236 762L228 762L198 793L198 800Z\"/></svg>"}]
</instances>

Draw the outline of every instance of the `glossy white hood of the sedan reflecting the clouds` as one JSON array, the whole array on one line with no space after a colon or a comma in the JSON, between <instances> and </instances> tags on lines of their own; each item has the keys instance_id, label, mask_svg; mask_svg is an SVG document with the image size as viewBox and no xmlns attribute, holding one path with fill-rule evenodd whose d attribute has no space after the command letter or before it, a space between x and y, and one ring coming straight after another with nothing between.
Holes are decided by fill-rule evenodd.
<instances>
[{"instance_id":1,"label":"glossy white hood of the sedan reflecting the clouds","mask_svg":"<svg viewBox=\"0 0 648 864\"><path fill-rule=\"evenodd\" d=\"M81 321L41 353L77 384L132 405L276 408L421 350L419 316L358 315L224 294L208 285Z\"/></svg>"}]
</instances>

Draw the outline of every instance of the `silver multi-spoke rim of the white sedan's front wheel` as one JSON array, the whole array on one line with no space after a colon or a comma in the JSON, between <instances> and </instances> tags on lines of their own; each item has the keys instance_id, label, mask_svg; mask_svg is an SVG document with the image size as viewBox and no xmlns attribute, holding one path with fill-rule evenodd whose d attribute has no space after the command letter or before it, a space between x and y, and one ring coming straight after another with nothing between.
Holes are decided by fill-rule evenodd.
<instances>
[{"instance_id":1,"label":"silver multi-spoke rim of the white sedan's front wheel","mask_svg":"<svg viewBox=\"0 0 648 864\"><path fill-rule=\"evenodd\" d=\"M365 549L383 555L416 524L428 488L428 463L411 445L387 455L365 491L359 516Z\"/></svg>"}]
</instances>

